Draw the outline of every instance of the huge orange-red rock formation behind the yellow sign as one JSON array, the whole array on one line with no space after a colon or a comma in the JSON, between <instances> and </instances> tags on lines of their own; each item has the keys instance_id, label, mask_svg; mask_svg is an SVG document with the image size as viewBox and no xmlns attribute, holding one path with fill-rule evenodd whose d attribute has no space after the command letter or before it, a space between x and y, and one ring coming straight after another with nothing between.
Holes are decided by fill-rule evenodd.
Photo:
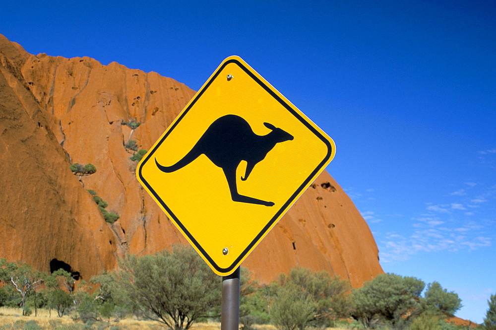
<instances>
[{"instance_id":1,"label":"huge orange-red rock formation behind the yellow sign","mask_svg":"<svg viewBox=\"0 0 496 330\"><path fill-rule=\"evenodd\" d=\"M0 257L48 270L62 260L88 278L127 253L186 244L135 178L135 140L148 149L194 95L155 72L83 57L26 53L0 35ZM124 123L140 123L134 130ZM71 163L96 166L75 176ZM114 224L86 190L120 214ZM191 187L194 189L194 187ZM295 265L360 286L382 272L372 233L324 172L243 264L262 282Z\"/></svg>"}]
</instances>

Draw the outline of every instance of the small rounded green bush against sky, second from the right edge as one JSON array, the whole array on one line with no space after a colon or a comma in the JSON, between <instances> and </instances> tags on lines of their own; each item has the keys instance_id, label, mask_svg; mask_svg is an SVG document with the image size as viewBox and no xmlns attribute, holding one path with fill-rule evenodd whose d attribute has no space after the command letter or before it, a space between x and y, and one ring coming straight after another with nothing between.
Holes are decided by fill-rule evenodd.
<instances>
[{"instance_id":1,"label":"small rounded green bush against sky, second from the right edge","mask_svg":"<svg viewBox=\"0 0 496 330\"><path fill-rule=\"evenodd\" d=\"M462 300L458 295L446 289L443 289L438 282L432 282L427 285L427 291L424 295L426 307L433 309L435 312L454 315L462 307Z\"/></svg>"}]
</instances>

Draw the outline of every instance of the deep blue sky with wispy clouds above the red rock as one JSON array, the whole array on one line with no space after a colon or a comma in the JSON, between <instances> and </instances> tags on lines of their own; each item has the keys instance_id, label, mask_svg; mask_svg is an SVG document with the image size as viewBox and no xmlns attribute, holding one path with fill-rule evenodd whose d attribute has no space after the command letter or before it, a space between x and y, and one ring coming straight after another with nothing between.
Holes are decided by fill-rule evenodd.
<instances>
[{"instance_id":1,"label":"deep blue sky with wispy clouds above the red rock","mask_svg":"<svg viewBox=\"0 0 496 330\"><path fill-rule=\"evenodd\" d=\"M198 90L239 55L336 142L329 173L387 272L482 322L496 293L496 2L4 1L32 54L89 56Z\"/></svg>"}]
</instances>

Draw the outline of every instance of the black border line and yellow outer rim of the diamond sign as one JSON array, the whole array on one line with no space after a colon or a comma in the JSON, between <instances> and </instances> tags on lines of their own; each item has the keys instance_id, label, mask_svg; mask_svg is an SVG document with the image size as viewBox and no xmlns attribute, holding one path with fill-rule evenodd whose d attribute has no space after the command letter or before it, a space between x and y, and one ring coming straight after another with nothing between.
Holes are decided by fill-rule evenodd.
<instances>
[{"instance_id":1,"label":"black border line and yellow outer rim of the diamond sign","mask_svg":"<svg viewBox=\"0 0 496 330\"><path fill-rule=\"evenodd\" d=\"M265 91L267 91L272 97L274 97L286 110L288 110L291 114L293 114L303 125L305 125L322 142L324 142L324 144L327 146L327 154L324 156L324 158L318 164L318 166L315 167L315 169L310 173L307 179L300 185L300 187L296 190L296 192L293 195L291 195L291 197L283 204L283 206L281 206L281 208L270 219L270 221L268 221L268 223L262 228L260 233L258 233L258 235L256 235L256 237L250 242L250 244L248 244L247 248L243 250L240 256L236 258L236 260L229 267L221 268L212 260L212 258L205 252L205 250L200 246L200 244L198 244L195 238L189 233L189 231L186 229L183 223L177 218L177 216L167 206L167 204L162 200L162 198L158 196L155 190L143 177L141 170L143 165L150 159L151 155L155 153L155 151L160 147L160 145L164 142L167 136L169 136L169 134L177 127L177 125L186 116L189 110L194 106L196 101L208 89L208 87L215 80L215 78L217 78L217 76L222 72L225 66L231 63L234 63L238 65L240 68L242 68L254 81L258 83L258 85L260 85ZM233 272L238 267L238 265L246 257L248 257L250 251L261 241L261 239L268 233L271 227L275 225L275 222L279 220L282 217L282 215L284 215L284 213L290 208L290 206L294 202L296 202L296 200L303 194L305 189L308 188L308 186L310 186L311 181L313 181L316 178L316 176L323 170L323 168L332 160L335 153L334 143L331 143L321 132L319 132L319 130L316 129L316 126L313 126L315 124L310 122L310 119L306 118L306 116L304 116L303 113L301 113L300 110L294 107L288 100L284 100L283 97L281 97L282 94L280 96L279 95L280 93L278 94L278 91L273 86L271 86L267 81L265 81L265 79L261 78L261 76L258 77L257 74L253 73L255 72L255 70L253 70L249 66L248 68L247 66L248 64L244 63L244 61L237 56L232 56L224 60L224 62L217 68L217 70L212 74L212 76L207 80L207 82L196 93L196 95L189 102L186 108L179 114L179 116L175 119L172 125L166 130L166 132L163 134L160 140L155 143L153 149L150 152L148 152L146 154L146 157L138 164L138 171L137 171L139 181L147 187L150 193L153 194L154 199L162 205L163 209L166 210L167 215L172 217L175 224L178 227L180 227L181 231L187 236L189 242L194 245L195 249L198 252L200 252L203 259L207 260L208 263L212 265L219 274L223 274L224 276L229 275L231 272Z\"/></svg>"}]
</instances>

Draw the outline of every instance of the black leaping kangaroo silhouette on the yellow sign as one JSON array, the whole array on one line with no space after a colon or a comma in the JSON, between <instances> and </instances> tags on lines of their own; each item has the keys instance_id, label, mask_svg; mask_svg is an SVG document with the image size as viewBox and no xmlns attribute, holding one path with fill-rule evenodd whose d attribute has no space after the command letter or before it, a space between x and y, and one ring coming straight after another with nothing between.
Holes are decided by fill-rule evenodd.
<instances>
[{"instance_id":1,"label":"black leaping kangaroo silhouette on the yellow sign","mask_svg":"<svg viewBox=\"0 0 496 330\"><path fill-rule=\"evenodd\" d=\"M155 163L162 172L171 173L185 167L201 154L205 154L212 163L224 171L231 198L234 201L272 206L274 203L271 201L238 194L236 183L236 169L242 160L248 163L245 176L241 177L241 180L245 181L253 167L265 158L276 143L294 138L290 133L276 128L274 125L269 123L263 123L263 125L271 129L272 132L266 135L257 135L251 130L248 122L240 116L226 115L220 117L208 127L193 148L176 164L162 166L156 158Z\"/></svg>"}]
</instances>

